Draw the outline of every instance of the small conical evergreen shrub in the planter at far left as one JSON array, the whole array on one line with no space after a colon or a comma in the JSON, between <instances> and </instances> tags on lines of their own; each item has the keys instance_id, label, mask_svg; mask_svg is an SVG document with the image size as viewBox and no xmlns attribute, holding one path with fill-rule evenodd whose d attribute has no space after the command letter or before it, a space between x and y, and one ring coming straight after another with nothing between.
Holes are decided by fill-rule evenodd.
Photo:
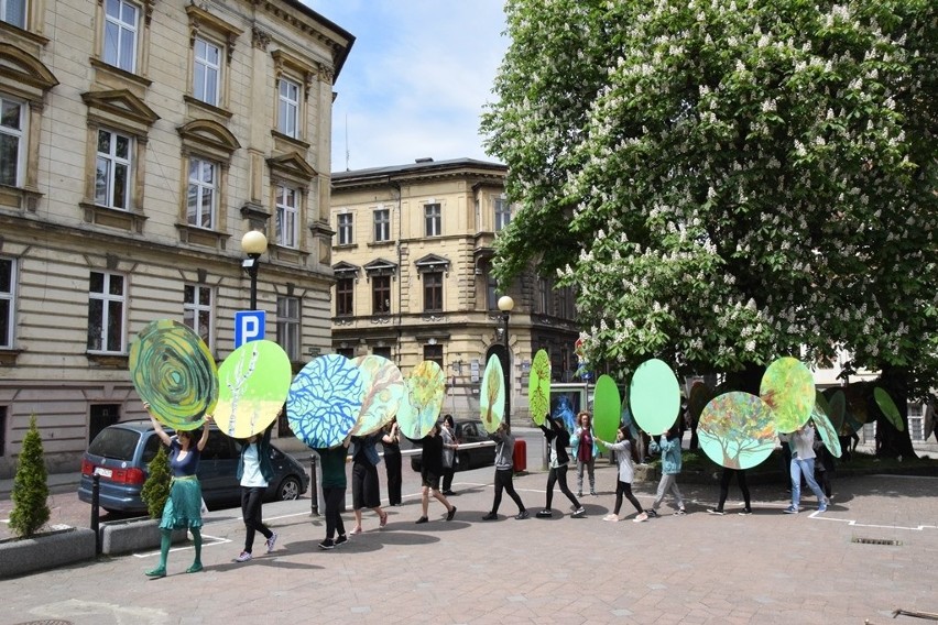
<instances>
[{"instance_id":1,"label":"small conical evergreen shrub in the planter at far left","mask_svg":"<svg viewBox=\"0 0 938 625\"><path fill-rule=\"evenodd\" d=\"M36 416L30 417L30 429L23 438L19 467L13 479L13 511L10 529L20 537L30 537L48 522L48 484L42 437L36 427Z\"/></svg>"}]
</instances>

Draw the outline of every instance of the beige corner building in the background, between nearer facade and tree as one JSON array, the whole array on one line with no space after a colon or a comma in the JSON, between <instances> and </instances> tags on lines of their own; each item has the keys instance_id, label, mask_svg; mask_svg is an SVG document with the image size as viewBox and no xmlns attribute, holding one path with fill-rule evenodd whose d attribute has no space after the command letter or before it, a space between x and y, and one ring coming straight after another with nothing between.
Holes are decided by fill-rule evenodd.
<instances>
[{"instance_id":1,"label":"beige corner building in the background, between nearer facade and tree","mask_svg":"<svg viewBox=\"0 0 938 625\"><path fill-rule=\"evenodd\" d=\"M498 232L511 221L506 168L468 158L332 173L332 351L377 353L406 376L423 360L447 376L444 413L478 415L490 355L504 364L504 320L491 274ZM534 273L508 289L512 423L526 423L534 353L554 377L576 369L569 289Z\"/></svg>"}]
</instances>

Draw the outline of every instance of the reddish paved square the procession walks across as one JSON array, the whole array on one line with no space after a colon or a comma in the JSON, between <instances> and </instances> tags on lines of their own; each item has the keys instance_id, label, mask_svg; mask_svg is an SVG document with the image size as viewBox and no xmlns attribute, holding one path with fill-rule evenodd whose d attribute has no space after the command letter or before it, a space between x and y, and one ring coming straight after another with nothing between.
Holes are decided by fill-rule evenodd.
<instances>
[{"instance_id":1,"label":"reddish paved square the procession walks across","mask_svg":"<svg viewBox=\"0 0 938 625\"><path fill-rule=\"evenodd\" d=\"M516 511L505 498L501 519L482 522L491 479L491 469L458 473L456 518L443 520L434 502L426 525L413 523L419 505L408 482L405 505L390 508L384 530L369 513L367 531L334 551L316 547L325 528L309 500L268 504L277 549L243 564L232 561L243 540L239 511L215 512L204 530L211 538L203 573L183 573L193 557L183 546L162 580L143 575L154 553L4 580L0 624L901 625L924 622L893 619L893 610L938 612L935 478L842 479L828 513L796 516L781 514L787 501L779 486L753 489L752 516L717 517L705 512L713 487L685 485L687 516L643 524L601 520L613 503L609 465L600 464L600 494L585 498L581 519L569 516L558 492L550 519L509 518ZM543 473L515 484L533 511L543 506ZM643 504L653 487L639 486ZM730 492L728 509L738 497Z\"/></svg>"}]
</instances>

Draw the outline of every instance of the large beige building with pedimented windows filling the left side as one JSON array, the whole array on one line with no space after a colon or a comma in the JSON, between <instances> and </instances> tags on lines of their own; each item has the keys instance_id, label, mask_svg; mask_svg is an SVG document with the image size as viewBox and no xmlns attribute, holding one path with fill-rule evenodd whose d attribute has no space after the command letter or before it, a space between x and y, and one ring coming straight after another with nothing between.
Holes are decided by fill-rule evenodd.
<instances>
[{"instance_id":1,"label":"large beige building with pedimented windows filling the left side","mask_svg":"<svg viewBox=\"0 0 938 625\"><path fill-rule=\"evenodd\" d=\"M137 333L220 361L249 307L302 365L329 348L332 85L353 37L294 0L0 2L0 478L30 415L50 468L142 417Z\"/></svg>"}]
</instances>

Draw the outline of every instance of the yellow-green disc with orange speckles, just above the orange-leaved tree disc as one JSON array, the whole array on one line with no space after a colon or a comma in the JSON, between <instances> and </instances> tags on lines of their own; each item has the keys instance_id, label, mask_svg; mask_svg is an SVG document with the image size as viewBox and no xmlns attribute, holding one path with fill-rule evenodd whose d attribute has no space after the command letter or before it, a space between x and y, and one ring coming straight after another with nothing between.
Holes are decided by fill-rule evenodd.
<instances>
[{"instance_id":1,"label":"yellow-green disc with orange speckles, just above the orange-leaved tree disc","mask_svg":"<svg viewBox=\"0 0 938 625\"><path fill-rule=\"evenodd\" d=\"M778 431L790 434L808 423L814 410L814 375L798 359L779 358L765 370L759 396L775 413Z\"/></svg>"}]
</instances>

